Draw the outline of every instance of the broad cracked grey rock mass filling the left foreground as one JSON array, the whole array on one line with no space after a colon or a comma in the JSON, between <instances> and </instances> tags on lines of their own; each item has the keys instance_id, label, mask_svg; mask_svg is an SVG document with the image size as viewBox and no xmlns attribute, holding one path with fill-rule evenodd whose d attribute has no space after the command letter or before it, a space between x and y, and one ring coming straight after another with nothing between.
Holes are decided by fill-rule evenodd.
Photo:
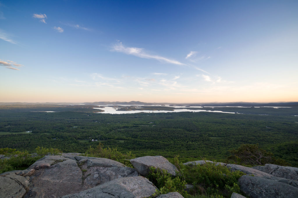
<instances>
[{"instance_id":1,"label":"broad cracked grey rock mass filling the left foreground","mask_svg":"<svg viewBox=\"0 0 298 198\"><path fill-rule=\"evenodd\" d=\"M2 173L1 193L17 193L20 197L60 197L77 193L111 180L138 176L138 172L120 162L63 153L62 156L45 156L24 171ZM15 182L14 182L15 181ZM2 183L2 182L1 182ZM11 188L14 186L13 188ZM6 196L0 196L6 197ZM9 196L8 196L9 197ZM15 196L18 197L18 196Z\"/></svg>"}]
</instances>

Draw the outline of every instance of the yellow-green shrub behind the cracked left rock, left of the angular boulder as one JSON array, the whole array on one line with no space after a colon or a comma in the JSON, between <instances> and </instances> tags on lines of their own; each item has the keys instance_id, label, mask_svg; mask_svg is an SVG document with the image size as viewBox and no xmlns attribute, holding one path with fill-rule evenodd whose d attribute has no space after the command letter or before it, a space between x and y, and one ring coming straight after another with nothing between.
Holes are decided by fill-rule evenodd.
<instances>
[{"instance_id":1,"label":"yellow-green shrub behind the cracked left rock, left of the angular boulder","mask_svg":"<svg viewBox=\"0 0 298 198\"><path fill-rule=\"evenodd\" d=\"M88 157L101 157L113 159L131 168L133 168L133 166L130 163L129 159L136 158L136 156L132 154L131 151L127 152L126 154L123 154L119 152L117 148L103 148L103 143L101 142L99 142L96 148L90 146L84 155Z\"/></svg>"}]
</instances>

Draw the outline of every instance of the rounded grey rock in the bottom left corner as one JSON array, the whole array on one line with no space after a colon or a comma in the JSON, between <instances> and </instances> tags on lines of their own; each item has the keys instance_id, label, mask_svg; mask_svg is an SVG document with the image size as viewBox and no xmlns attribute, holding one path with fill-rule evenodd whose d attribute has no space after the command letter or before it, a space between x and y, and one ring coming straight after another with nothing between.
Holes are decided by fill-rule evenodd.
<instances>
[{"instance_id":1,"label":"rounded grey rock in the bottom left corner","mask_svg":"<svg viewBox=\"0 0 298 198\"><path fill-rule=\"evenodd\" d=\"M24 186L11 178L0 176L0 184L0 197L21 198L26 193Z\"/></svg>"}]
</instances>

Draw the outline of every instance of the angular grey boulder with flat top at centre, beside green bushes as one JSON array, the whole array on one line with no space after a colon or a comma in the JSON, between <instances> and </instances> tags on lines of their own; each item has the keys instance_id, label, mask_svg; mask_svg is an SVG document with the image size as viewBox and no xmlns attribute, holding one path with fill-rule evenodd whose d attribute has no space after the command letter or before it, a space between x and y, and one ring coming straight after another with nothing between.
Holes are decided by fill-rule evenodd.
<instances>
[{"instance_id":1,"label":"angular grey boulder with flat top at centre, beside green bushes","mask_svg":"<svg viewBox=\"0 0 298 198\"><path fill-rule=\"evenodd\" d=\"M176 176L175 171L178 171L178 169L163 156L144 156L131 159L130 161L134 168L143 176L149 173L150 167L166 170L173 176Z\"/></svg>"}]
</instances>

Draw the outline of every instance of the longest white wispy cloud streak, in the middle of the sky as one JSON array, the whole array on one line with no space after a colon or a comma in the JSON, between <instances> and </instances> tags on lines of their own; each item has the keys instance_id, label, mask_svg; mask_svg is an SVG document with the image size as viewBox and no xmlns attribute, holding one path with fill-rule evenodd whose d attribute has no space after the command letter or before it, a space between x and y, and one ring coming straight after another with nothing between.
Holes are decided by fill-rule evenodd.
<instances>
[{"instance_id":1,"label":"longest white wispy cloud streak, in the middle of the sky","mask_svg":"<svg viewBox=\"0 0 298 198\"><path fill-rule=\"evenodd\" d=\"M165 58L165 57L158 56L158 55L148 54L148 53L145 52L145 50L143 48L125 47L124 45L122 45L121 42L115 44L112 47L112 51L122 52L122 53L125 53L125 54L137 56L137 57L140 57L140 58L155 59L157 61L166 62L166 63L170 63L170 64L185 65L185 64L183 64L179 61L173 60L173 59Z\"/></svg>"}]
</instances>

